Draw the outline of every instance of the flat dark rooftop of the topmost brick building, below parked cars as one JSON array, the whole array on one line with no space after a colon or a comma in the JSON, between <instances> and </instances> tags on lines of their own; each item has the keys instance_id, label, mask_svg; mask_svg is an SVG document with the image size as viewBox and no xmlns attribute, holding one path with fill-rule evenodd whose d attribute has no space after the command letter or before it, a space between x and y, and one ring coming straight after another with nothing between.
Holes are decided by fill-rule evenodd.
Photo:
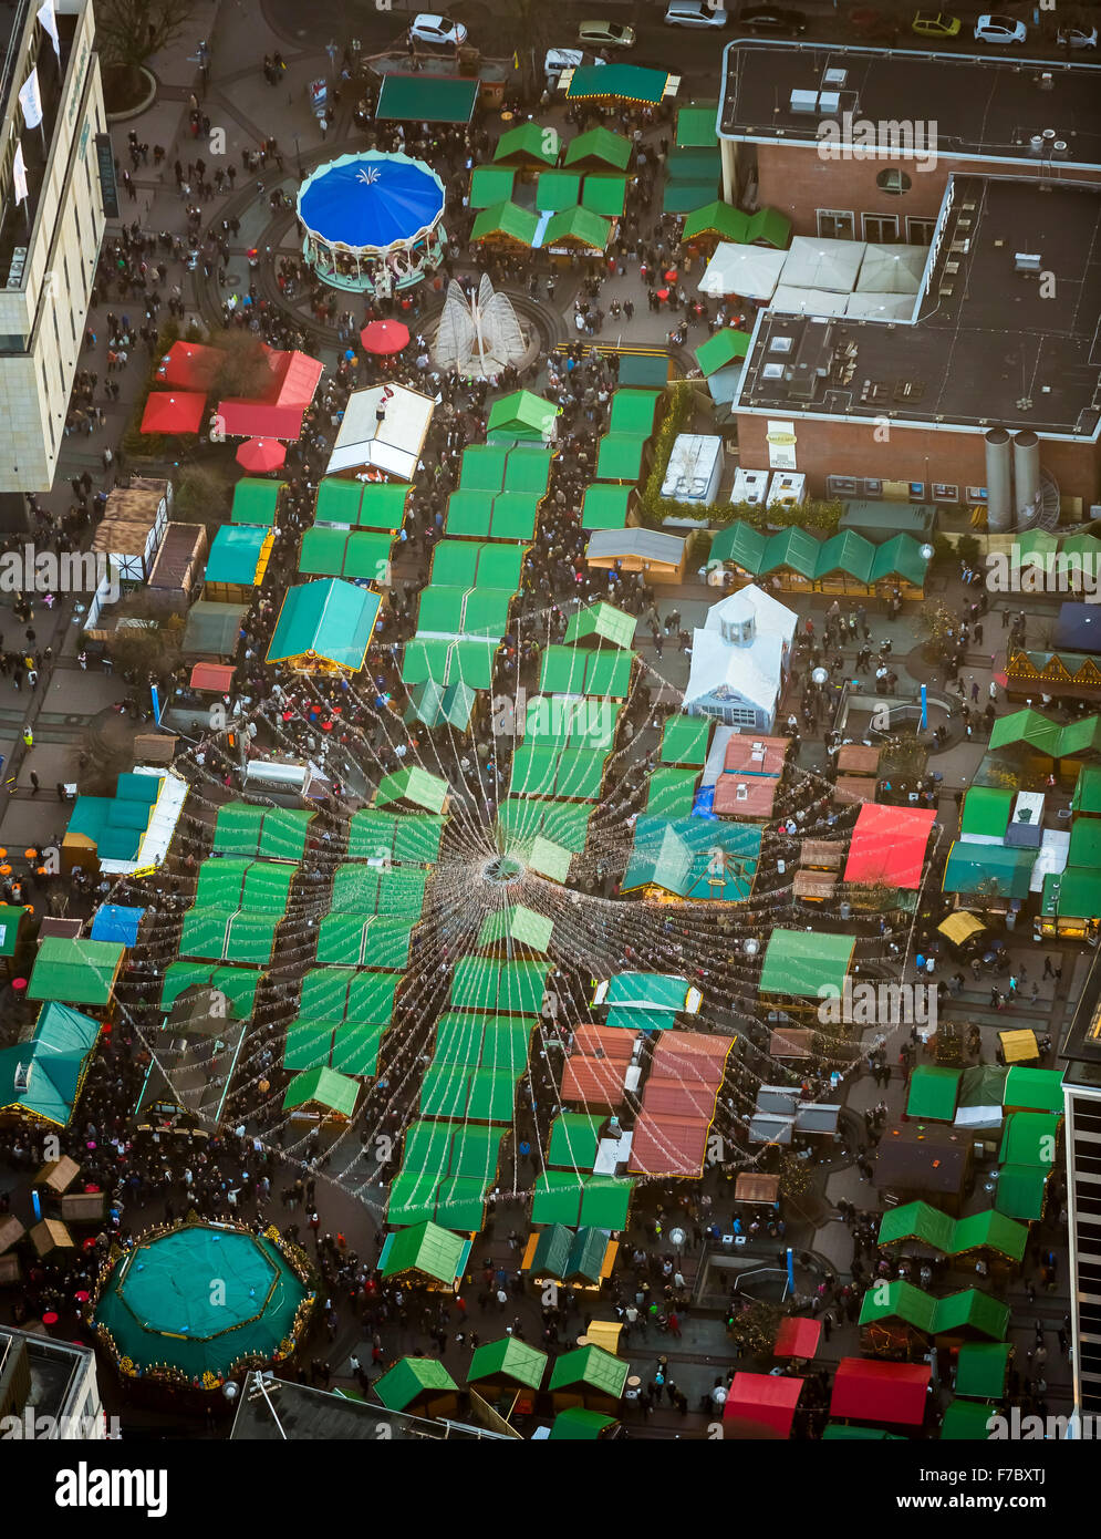
<instances>
[{"instance_id":1,"label":"flat dark rooftop of the topmost brick building, below parked cars","mask_svg":"<svg viewBox=\"0 0 1101 1539\"><path fill-rule=\"evenodd\" d=\"M792 92L800 92L795 111ZM1050 128L1052 143L1067 146L1055 165L1101 166L1098 65L827 43L727 45L720 137L813 143L818 123L844 112L935 125L940 157L1003 163L1038 165L1030 140Z\"/></svg>"}]
</instances>

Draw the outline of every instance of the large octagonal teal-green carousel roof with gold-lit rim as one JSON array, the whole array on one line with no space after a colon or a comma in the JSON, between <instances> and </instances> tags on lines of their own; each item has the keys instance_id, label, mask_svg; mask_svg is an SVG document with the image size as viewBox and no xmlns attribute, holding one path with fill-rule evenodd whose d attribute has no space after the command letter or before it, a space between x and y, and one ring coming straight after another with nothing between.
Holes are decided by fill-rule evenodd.
<instances>
[{"instance_id":1,"label":"large octagonal teal-green carousel roof with gold-lit rim","mask_svg":"<svg viewBox=\"0 0 1101 1539\"><path fill-rule=\"evenodd\" d=\"M220 1279L215 1299L211 1279ZM92 1324L121 1371L155 1379L168 1367L214 1390L244 1359L289 1357L314 1294L277 1244L229 1224L185 1224L138 1239L115 1265Z\"/></svg>"}]
</instances>

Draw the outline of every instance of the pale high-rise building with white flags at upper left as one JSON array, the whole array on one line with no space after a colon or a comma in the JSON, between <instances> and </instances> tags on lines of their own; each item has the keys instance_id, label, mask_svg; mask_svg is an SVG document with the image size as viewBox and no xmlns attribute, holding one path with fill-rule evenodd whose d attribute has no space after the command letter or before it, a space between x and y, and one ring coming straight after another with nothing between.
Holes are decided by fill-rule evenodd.
<instances>
[{"instance_id":1,"label":"pale high-rise building with white flags at upper left","mask_svg":"<svg viewBox=\"0 0 1101 1539\"><path fill-rule=\"evenodd\" d=\"M48 491L114 195L91 0L0 20L0 492ZM57 38L57 42L54 40Z\"/></svg>"}]
</instances>

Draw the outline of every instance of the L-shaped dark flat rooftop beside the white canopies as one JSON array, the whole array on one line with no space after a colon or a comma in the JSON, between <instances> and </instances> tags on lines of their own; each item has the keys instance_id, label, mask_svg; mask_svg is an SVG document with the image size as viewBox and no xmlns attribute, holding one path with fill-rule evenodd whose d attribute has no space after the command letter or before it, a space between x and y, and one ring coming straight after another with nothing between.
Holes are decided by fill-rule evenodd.
<instances>
[{"instance_id":1,"label":"L-shaped dark flat rooftop beside the white canopies","mask_svg":"<svg viewBox=\"0 0 1101 1539\"><path fill-rule=\"evenodd\" d=\"M1095 439L1099 229L1101 188L952 177L916 320L766 311L735 411Z\"/></svg>"}]
</instances>

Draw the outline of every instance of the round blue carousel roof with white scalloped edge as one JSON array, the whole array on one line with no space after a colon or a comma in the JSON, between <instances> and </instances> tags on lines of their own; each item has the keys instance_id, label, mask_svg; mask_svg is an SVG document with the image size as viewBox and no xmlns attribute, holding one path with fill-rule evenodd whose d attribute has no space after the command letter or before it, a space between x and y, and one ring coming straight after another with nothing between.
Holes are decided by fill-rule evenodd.
<instances>
[{"instance_id":1,"label":"round blue carousel roof with white scalloped edge","mask_svg":"<svg viewBox=\"0 0 1101 1539\"><path fill-rule=\"evenodd\" d=\"M306 229L354 249L412 242L441 212L440 177L409 155L341 155L318 166L298 191L298 219Z\"/></svg>"}]
</instances>

